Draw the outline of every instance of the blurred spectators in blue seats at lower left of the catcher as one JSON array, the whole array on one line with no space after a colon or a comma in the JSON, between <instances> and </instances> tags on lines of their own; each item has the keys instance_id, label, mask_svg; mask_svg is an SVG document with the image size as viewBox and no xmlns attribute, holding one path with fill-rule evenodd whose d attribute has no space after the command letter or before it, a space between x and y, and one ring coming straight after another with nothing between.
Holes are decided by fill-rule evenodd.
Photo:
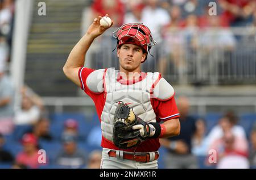
<instances>
[{"instance_id":1,"label":"blurred spectators in blue seats at lower left of the catcher","mask_svg":"<svg viewBox=\"0 0 256 180\"><path fill-rule=\"evenodd\" d=\"M0 168L100 168L101 129L82 126L91 125L85 119L49 116L14 124L12 131L0 132Z\"/></svg>"}]
</instances>

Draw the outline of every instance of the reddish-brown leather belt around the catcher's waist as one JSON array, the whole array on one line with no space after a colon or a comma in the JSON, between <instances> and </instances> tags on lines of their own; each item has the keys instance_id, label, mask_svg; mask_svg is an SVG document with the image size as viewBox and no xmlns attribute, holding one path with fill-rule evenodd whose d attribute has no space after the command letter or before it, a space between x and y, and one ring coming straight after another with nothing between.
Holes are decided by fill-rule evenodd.
<instances>
[{"instance_id":1,"label":"reddish-brown leather belt around the catcher's waist","mask_svg":"<svg viewBox=\"0 0 256 180\"><path fill-rule=\"evenodd\" d=\"M117 157L115 150L110 150L108 153L110 157ZM158 152L155 152L154 160L157 160L159 157ZM134 153L126 153L123 152L123 158L125 160L133 160L137 162L150 162L150 153L143 153L143 154L134 154Z\"/></svg>"}]
</instances>

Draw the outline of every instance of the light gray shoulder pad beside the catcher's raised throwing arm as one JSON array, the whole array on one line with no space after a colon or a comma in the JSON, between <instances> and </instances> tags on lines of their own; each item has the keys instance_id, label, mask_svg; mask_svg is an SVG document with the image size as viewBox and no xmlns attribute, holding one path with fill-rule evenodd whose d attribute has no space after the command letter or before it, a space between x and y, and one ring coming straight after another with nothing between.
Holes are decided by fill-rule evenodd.
<instances>
[{"instance_id":1,"label":"light gray shoulder pad beside the catcher's raised throwing arm","mask_svg":"<svg viewBox=\"0 0 256 180\"><path fill-rule=\"evenodd\" d=\"M102 93L104 91L103 76L105 69L94 70L86 79L86 85L93 93Z\"/></svg>"}]
</instances>

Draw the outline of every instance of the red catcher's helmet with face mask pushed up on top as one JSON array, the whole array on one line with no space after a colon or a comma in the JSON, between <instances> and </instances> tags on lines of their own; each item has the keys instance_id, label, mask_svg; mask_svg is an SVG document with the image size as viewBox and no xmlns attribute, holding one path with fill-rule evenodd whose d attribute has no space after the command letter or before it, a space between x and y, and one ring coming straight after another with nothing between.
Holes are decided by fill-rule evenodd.
<instances>
[{"instance_id":1,"label":"red catcher's helmet with face mask pushed up on top","mask_svg":"<svg viewBox=\"0 0 256 180\"><path fill-rule=\"evenodd\" d=\"M117 39L117 47L122 44L135 44L142 47L144 53L148 53L156 41L151 35L150 29L143 23L127 23L113 32Z\"/></svg>"}]
</instances>

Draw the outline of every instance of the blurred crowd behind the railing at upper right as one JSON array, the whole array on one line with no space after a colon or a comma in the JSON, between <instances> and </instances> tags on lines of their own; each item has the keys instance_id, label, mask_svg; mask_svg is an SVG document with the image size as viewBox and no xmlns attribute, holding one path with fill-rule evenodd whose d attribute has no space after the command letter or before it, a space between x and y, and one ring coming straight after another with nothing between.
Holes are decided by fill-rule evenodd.
<instances>
[{"instance_id":1,"label":"blurred crowd behind the railing at upper right","mask_svg":"<svg viewBox=\"0 0 256 180\"><path fill-rule=\"evenodd\" d=\"M214 7L209 6L210 2L216 2L216 15L212 15ZM148 56L143 64L146 72L154 70L171 76L193 75L197 81L204 81L216 73L226 76L226 72L230 72L229 75L236 76L240 69L232 69L232 66L240 64L237 61L250 58L250 54L255 57L256 1L95 0L92 1L91 11L92 18L108 13L115 27L139 22L150 28L157 44L150 51L153 56ZM102 38L102 47L111 43L104 41L108 39ZM114 47L114 41L112 44ZM248 50L246 55L240 57L245 49ZM101 51L106 50L102 48ZM97 68L104 68L101 59L102 56L98 56L94 61L100 61ZM254 59L249 61L255 65ZM112 66L118 68L116 64ZM220 72L221 68L228 70ZM179 78L178 81L183 81Z\"/></svg>"}]
</instances>

